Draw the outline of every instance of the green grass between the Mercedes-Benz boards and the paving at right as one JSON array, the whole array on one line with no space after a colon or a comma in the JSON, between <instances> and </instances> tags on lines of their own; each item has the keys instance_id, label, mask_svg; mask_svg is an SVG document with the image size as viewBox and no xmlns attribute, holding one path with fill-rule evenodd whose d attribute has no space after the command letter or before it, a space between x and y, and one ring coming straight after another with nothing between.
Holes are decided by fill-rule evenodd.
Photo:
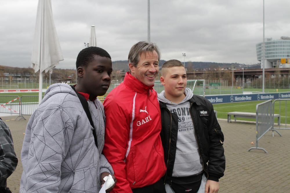
<instances>
[{"instance_id":1,"label":"green grass between the Mercedes-Benz boards and the paving at right","mask_svg":"<svg viewBox=\"0 0 290 193\"><path fill-rule=\"evenodd\" d=\"M219 119L227 119L228 112L240 111L240 112L256 112L256 105L264 101L251 101L251 102L240 102L240 103L225 103L225 104L213 104L214 110L218 112ZM281 108L279 110L279 103L275 102L275 114L281 115L281 123L287 121L290 124L290 101L287 103L287 117L285 117L285 102L281 102ZM233 116L231 117L234 120ZM285 120L286 119L286 120ZM237 118L237 120L244 121L255 121L255 119ZM277 123L277 118L275 118Z\"/></svg>"}]
</instances>

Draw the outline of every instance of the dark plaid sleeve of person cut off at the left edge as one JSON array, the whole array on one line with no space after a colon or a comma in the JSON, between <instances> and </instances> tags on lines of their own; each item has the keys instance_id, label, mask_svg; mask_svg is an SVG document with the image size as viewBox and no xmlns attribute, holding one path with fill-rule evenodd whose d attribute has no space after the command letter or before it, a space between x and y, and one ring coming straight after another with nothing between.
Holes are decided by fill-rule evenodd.
<instances>
[{"instance_id":1,"label":"dark plaid sleeve of person cut off at the left edge","mask_svg":"<svg viewBox=\"0 0 290 193\"><path fill-rule=\"evenodd\" d=\"M10 130L0 120L0 186L6 185L6 179L14 172L17 163L18 159L14 152Z\"/></svg>"}]
</instances>

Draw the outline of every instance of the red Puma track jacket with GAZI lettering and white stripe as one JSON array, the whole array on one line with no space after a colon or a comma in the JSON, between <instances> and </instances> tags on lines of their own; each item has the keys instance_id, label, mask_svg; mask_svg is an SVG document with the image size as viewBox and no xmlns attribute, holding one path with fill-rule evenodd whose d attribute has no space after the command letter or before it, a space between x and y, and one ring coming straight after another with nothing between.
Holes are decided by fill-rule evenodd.
<instances>
[{"instance_id":1,"label":"red Puma track jacket with GAZI lettering and white stripe","mask_svg":"<svg viewBox=\"0 0 290 193\"><path fill-rule=\"evenodd\" d=\"M157 182L166 166L156 91L127 72L124 82L106 97L104 108L103 154L117 178L113 192L130 193Z\"/></svg>"}]
</instances>

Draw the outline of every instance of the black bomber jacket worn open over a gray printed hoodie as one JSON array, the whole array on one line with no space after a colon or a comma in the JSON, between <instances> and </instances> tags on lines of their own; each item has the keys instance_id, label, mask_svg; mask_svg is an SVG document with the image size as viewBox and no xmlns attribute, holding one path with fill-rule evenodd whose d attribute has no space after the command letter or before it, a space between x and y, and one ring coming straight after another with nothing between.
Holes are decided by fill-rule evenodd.
<instances>
[{"instance_id":1,"label":"black bomber jacket worn open over a gray printed hoodie","mask_svg":"<svg viewBox=\"0 0 290 193\"><path fill-rule=\"evenodd\" d=\"M213 105L204 97L193 95L190 101L190 115L193 120L199 154L203 169L209 180L219 181L224 175L224 135L215 117ZM160 101L162 130L160 133L167 167L164 183L170 183L175 161L178 116L171 113L166 103ZM207 164L208 163L208 164Z\"/></svg>"}]
</instances>

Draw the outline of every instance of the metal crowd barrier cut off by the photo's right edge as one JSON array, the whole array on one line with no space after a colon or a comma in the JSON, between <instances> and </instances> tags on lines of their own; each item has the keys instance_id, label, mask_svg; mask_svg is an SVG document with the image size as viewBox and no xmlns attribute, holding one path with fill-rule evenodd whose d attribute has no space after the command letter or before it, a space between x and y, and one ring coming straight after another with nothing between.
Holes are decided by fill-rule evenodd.
<instances>
[{"instance_id":1,"label":"metal crowd barrier cut off by the photo's right edge","mask_svg":"<svg viewBox=\"0 0 290 193\"><path fill-rule=\"evenodd\" d=\"M287 109L287 101L290 101L290 99L275 99L273 101L273 112L275 110L275 104L279 105L279 114L281 115L281 124L280 125L274 125L273 124L273 133L272 136L274 136L274 131L276 131L280 136L282 136L277 129L286 129L286 130L290 130L289 127L289 122L290 122L290 117L288 117L287 115L287 111L289 111L290 109ZM282 105L281 105L282 103ZM289 103L288 103L289 104ZM276 107L277 107L276 105ZM284 113L283 113L284 111Z\"/></svg>"}]
</instances>

